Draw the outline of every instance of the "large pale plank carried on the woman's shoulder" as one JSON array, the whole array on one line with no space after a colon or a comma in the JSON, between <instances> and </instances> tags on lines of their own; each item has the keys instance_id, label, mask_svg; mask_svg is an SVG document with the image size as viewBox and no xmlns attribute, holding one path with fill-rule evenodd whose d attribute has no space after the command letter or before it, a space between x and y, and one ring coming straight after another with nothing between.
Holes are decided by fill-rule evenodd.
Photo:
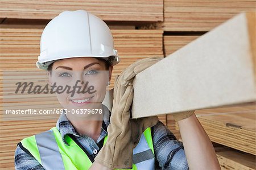
<instances>
[{"instance_id":1,"label":"large pale plank carried on the woman's shoulder","mask_svg":"<svg viewBox=\"0 0 256 170\"><path fill-rule=\"evenodd\" d=\"M239 14L139 73L133 118L255 101L255 19Z\"/></svg>"}]
</instances>

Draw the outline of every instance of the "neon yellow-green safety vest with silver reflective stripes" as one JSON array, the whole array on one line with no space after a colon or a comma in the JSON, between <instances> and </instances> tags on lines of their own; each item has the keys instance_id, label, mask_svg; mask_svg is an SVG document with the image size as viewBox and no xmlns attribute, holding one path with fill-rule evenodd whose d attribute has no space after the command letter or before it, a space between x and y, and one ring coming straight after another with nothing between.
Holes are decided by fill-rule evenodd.
<instances>
[{"instance_id":1,"label":"neon yellow-green safety vest with silver reflective stripes","mask_svg":"<svg viewBox=\"0 0 256 170\"><path fill-rule=\"evenodd\" d=\"M107 138L108 136L105 136L104 144ZM51 130L24 138L18 145L23 151L35 157L44 169L89 169L94 160L85 148L81 146L75 136L65 135L65 140L68 145L63 142L59 130L53 127ZM133 150L132 169L151 170L154 168L154 148L151 129L148 127Z\"/></svg>"}]
</instances>

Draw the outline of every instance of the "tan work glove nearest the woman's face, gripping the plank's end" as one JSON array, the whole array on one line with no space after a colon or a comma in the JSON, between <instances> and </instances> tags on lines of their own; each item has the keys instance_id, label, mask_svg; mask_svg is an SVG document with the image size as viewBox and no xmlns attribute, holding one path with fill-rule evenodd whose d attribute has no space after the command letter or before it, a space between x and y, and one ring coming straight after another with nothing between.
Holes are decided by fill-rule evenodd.
<instances>
[{"instance_id":1,"label":"tan work glove nearest the woman's face, gripping the plank's end","mask_svg":"<svg viewBox=\"0 0 256 170\"><path fill-rule=\"evenodd\" d=\"M157 116L130 119L130 106L133 102L133 78L160 59L163 58L151 57L138 60L125 69L120 76L115 77L108 140L95 157L96 162L111 169L131 169L133 167L133 149L137 146L144 130L158 122Z\"/></svg>"}]
</instances>

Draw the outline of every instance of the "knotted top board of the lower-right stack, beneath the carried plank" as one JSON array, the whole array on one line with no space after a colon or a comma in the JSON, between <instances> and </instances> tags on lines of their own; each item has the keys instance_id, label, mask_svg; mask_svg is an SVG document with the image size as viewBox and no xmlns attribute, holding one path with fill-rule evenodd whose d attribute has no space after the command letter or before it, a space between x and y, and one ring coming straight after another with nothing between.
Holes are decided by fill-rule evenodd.
<instances>
[{"instance_id":1,"label":"knotted top board of the lower-right stack, beneath the carried plank","mask_svg":"<svg viewBox=\"0 0 256 170\"><path fill-rule=\"evenodd\" d=\"M210 140L256 155L256 103L195 113Z\"/></svg>"}]
</instances>

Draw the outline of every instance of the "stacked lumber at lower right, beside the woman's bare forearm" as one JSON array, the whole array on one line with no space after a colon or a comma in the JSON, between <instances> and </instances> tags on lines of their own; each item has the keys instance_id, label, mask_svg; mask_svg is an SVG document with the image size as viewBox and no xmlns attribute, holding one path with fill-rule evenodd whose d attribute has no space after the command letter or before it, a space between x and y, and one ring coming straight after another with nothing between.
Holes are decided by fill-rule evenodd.
<instances>
[{"instance_id":1,"label":"stacked lumber at lower right, beside the woman's bare forearm","mask_svg":"<svg viewBox=\"0 0 256 170\"><path fill-rule=\"evenodd\" d=\"M213 142L221 169L256 169L255 102L196 110L195 114Z\"/></svg>"}]
</instances>

